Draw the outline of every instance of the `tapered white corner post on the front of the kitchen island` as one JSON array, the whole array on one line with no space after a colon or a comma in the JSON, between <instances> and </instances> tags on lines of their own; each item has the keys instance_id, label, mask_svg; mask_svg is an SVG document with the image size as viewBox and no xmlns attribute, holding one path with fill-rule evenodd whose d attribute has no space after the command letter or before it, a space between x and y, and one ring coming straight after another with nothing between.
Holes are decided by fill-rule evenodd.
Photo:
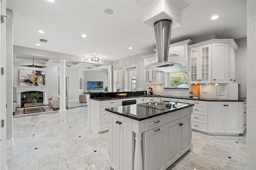
<instances>
[{"instance_id":1,"label":"tapered white corner post on the front of the kitchen island","mask_svg":"<svg viewBox=\"0 0 256 170\"><path fill-rule=\"evenodd\" d=\"M143 170L141 135L135 132L134 170Z\"/></svg>"}]
</instances>

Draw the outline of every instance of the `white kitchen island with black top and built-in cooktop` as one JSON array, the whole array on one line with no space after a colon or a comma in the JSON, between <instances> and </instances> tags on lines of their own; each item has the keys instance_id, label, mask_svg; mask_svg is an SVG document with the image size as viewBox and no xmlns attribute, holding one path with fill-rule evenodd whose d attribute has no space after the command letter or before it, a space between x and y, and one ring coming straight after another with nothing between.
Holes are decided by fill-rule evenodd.
<instances>
[{"instance_id":1,"label":"white kitchen island with black top and built-in cooktop","mask_svg":"<svg viewBox=\"0 0 256 170\"><path fill-rule=\"evenodd\" d=\"M108 168L166 169L192 150L193 104L156 101L105 110L110 125Z\"/></svg>"}]
</instances>

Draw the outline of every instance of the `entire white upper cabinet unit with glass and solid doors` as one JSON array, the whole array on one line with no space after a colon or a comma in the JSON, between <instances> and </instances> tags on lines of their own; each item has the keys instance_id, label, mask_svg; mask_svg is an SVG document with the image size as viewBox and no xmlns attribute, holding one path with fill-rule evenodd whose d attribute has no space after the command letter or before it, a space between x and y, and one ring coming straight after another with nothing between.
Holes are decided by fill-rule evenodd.
<instances>
[{"instance_id":1,"label":"entire white upper cabinet unit with glass and solid doors","mask_svg":"<svg viewBox=\"0 0 256 170\"><path fill-rule=\"evenodd\" d=\"M190 83L230 83L235 80L233 39L214 39L189 45Z\"/></svg>"}]
</instances>

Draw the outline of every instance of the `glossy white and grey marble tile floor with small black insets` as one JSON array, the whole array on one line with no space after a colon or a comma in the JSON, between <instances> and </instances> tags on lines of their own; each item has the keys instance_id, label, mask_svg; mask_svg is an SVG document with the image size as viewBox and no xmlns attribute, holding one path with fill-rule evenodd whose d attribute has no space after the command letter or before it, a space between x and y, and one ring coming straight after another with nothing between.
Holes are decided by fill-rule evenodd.
<instances>
[{"instance_id":1,"label":"glossy white and grey marble tile floor with small black insets","mask_svg":"<svg viewBox=\"0 0 256 170\"><path fill-rule=\"evenodd\" d=\"M14 148L8 170L106 170L108 132L87 128L87 107L13 118ZM194 150L168 170L245 170L246 134L210 136L192 132ZM230 158L228 158L230 157Z\"/></svg>"}]
</instances>

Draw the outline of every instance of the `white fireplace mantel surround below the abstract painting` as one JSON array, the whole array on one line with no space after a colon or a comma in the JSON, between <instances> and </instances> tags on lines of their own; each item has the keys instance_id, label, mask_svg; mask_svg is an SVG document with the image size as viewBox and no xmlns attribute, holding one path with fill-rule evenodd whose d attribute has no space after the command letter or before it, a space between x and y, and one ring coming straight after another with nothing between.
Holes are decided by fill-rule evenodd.
<instances>
[{"instance_id":1,"label":"white fireplace mantel surround below the abstract painting","mask_svg":"<svg viewBox=\"0 0 256 170\"><path fill-rule=\"evenodd\" d=\"M44 92L44 104L48 105L47 101L47 91L48 91L48 86L14 86L16 89L16 100L17 100L17 107L21 107L21 102L20 102L20 93L25 92L25 91L42 91Z\"/></svg>"}]
</instances>

